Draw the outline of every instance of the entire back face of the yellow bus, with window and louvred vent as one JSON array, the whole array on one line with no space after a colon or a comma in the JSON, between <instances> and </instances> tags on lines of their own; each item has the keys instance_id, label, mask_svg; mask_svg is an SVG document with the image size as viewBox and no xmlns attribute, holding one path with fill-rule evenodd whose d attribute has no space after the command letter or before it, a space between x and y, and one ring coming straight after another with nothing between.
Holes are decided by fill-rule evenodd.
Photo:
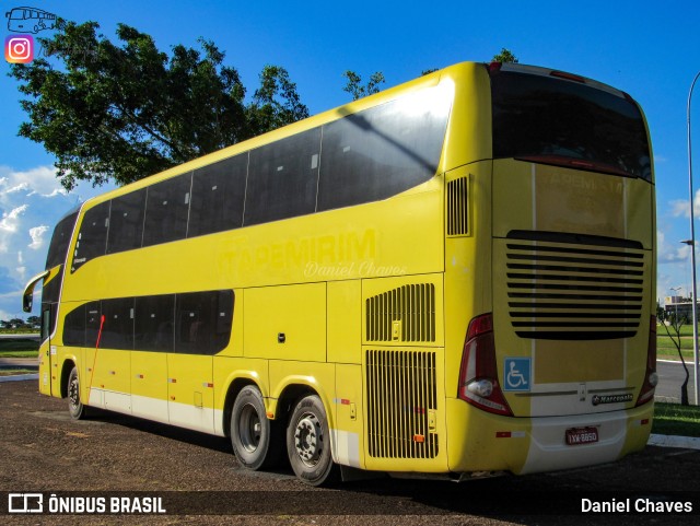
<instances>
[{"instance_id":1,"label":"entire back face of the yellow bus, with window and louvred vent","mask_svg":"<svg viewBox=\"0 0 700 526\"><path fill-rule=\"evenodd\" d=\"M655 219L644 117L578 75L489 68L491 301L465 337L455 470L516 474L644 447L655 373ZM489 453L479 455L485 444Z\"/></svg>"}]
</instances>

